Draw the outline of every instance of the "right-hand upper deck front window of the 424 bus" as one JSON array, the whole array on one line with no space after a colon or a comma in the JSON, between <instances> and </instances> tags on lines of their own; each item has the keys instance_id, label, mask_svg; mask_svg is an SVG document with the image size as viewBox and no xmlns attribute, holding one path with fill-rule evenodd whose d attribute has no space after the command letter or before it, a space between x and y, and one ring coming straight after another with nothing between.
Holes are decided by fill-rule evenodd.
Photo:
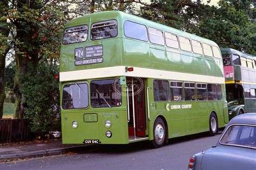
<instances>
[{"instance_id":1,"label":"right-hand upper deck front window of the 424 bus","mask_svg":"<svg viewBox=\"0 0 256 170\"><path fill-rule=\"evenodd\" d=\"M94 23L91 26L91 39L98 40L117 36L117 21L108 20L105 22Z\"/></svg>"}]
</instances>

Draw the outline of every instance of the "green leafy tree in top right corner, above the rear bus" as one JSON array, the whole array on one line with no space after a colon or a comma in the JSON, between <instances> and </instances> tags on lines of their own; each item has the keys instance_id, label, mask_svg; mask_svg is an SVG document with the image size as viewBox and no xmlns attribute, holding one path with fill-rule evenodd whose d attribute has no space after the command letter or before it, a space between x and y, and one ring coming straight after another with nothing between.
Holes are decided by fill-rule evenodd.
<instances>
[{"instance_id":1,"label":"green leafy tree in top right corner, above the rear bus","mask_svg":"<svg viewBox=\"0 0 256 170\"><path fill-rule=\"evenodd\" d=\"M191 32L230 47L255 55L255 19L250 1L220 1L219 7L198 4L187 9L196 23Z\"/></svg>"}]
</instances>

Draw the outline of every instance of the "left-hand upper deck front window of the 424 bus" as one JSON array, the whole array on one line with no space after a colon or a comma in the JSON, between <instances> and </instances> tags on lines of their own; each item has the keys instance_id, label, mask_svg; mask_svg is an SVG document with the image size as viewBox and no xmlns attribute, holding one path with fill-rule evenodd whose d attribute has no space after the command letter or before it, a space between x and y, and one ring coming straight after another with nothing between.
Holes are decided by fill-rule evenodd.
<instances>
[{"instance_id":1,"label":"left-hand upper deck front window of the 424 bus","mask_svg":"<svg viewBox=\"0 0 256 170\"><path fill-rule=\"evenodd\" d=\"M80 25L74 27L68 27L64 31L62 43L72 44L76 42L83 42L87 40L88 29L87 25Z\"/></svg>"}]
</instances>

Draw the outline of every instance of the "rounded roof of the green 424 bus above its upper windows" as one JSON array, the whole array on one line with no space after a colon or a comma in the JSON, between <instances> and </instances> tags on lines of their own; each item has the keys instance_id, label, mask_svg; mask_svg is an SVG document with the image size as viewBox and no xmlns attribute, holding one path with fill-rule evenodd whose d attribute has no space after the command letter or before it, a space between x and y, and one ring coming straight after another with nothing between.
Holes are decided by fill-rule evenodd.
<instances>
[{"instance_id":1,"label":"rounded roof of the green 424 bus above its upper windows","mask_svg":"<svg viewBox=\"0 0 256 170\"><path fill-rule=\"evenodd\" d=\"M129 13L125 13L125 12L122 12L122 11L104 11L104 12L90 13L88 15L81 16L81 17L70 20L65 25L65 27L81 25L79 23L81 23L85 18L91 18L91 17L93 17L93 18L95 18L95 17L97 17L97 18L100 18L100 17L106 18L106 16L109 16L109 18L120 16L120 17L122 17L123 20L131 20L133 22L138 22L140 24L145 24L149 27L153 27L154 29L159 29L159 30L163 30L163 31L166 31L166 32L171 32L171 33L174 33L174 34L178 34L178 36L184 36L186 38L190 38L190 39L193 39L193 40L198 40L198 41L204 42L206 44L218 46L212 40L202 38L202 37L196 36L194 34L191 34L191 33L185 32L185 31L180 31L180 30L174 29L173 27L170 27L170 26L166 26L166 25L163 25L163 24L152 22L151 20L147 20L147 19L144 19L142 17L131 15Z\"/></svg>"}]
</instances>

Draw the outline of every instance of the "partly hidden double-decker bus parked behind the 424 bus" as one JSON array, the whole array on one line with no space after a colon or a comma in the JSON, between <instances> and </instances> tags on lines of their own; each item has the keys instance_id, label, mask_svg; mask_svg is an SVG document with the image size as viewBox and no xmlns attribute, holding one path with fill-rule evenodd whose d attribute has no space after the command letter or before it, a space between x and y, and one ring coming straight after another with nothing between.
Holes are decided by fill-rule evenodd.
<instances>
[{"instance_id":1,"label":"partly hidden double-decker bus parked behind the 424 bus","mask_svg":"<svg viewBox=\"0 0 256 170\"><path fill-rule=\"evenodd\" d=\"M220 48L223 55L229 118L256 112L256 57L232 48Z\"/></svg>"}]
</instances>

